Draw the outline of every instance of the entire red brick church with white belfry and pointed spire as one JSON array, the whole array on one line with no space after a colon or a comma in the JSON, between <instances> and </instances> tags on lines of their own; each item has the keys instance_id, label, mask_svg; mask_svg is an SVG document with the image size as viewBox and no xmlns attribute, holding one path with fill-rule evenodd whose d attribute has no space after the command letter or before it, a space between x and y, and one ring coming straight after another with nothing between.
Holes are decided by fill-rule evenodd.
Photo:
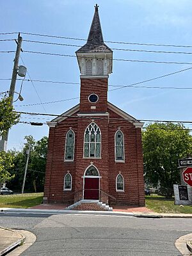
<instances>
[{"instance_id":1,"label":"entire red brick church with white belfry and pointed spire","mask_svg":"<svg viewBox=\"0 0 192 256\"><path fill-rule=\"evenodd\" d=\"M108 102L113 51L104 44L98 7L88 40L76 51L80 102L47 123L44 202L68 209L145 205L143 123Z\"/></svg>"}]
</instances>

